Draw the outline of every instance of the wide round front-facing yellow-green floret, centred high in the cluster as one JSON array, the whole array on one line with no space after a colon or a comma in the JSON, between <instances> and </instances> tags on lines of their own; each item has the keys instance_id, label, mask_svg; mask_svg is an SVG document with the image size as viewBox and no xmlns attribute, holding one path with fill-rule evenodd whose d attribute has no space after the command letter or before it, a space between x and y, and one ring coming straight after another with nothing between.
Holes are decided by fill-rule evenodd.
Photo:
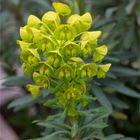
<instances>
[{"instance_id":1,"label":"wide round front-facing yellow-green floret, centred high in the cluster","mask_svg":"<svg viewBox=\"0 0 140 140\"><path fill-rule=\"evenodd\" d=\"M72 40L76 36L76 31L71 25L61 24L55 29L54 34L58 40Z\"/></svg>"}]
</instances>

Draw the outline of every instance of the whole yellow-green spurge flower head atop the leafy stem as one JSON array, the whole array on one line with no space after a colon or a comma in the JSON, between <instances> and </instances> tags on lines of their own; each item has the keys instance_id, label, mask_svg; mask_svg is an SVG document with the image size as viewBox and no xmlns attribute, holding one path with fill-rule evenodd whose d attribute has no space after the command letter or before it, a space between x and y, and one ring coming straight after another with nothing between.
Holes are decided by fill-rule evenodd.
<instances>
[{"instance_id":1,"label":"whole yellow-green spurge flower head atop the leafy stem","mask_svg":"<svg viewBox=\"0 0 140 140\"><path fill-rule=\"evenodd\" d=\"M90 13L72 15L63 3L54 2L53 7L55 12L45 13L41 20L30 15L27 25L20 28L22 67L35 82L27 85L33 97L41 89L49 89L58 103L68 108L68 115L75 116L77 106L88 103L86 79L105 78L111 66L100 64L108 49L106 45L98 47L100 31L88 31L92 25Z\"/></svg>"}]
</instances>

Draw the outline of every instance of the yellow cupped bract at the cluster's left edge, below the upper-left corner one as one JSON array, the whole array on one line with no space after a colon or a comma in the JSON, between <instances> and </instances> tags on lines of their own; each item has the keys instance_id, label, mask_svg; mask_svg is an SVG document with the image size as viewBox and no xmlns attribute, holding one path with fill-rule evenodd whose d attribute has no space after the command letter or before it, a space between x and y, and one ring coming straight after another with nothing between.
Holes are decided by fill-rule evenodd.
<instances>
[{"instance_id":1,"label":"yellow cupped bract at the cluster's left edge, below the upper-left corner one","mask_svg":"<svg viewBox=\"0 0 140 140\"><path fill-rule=\"evenodd\" d=\"M33 39L33 34L30 28L27 26L20 27L20 37L25 42L31 42Z\"/></svg>"}]
</instances>

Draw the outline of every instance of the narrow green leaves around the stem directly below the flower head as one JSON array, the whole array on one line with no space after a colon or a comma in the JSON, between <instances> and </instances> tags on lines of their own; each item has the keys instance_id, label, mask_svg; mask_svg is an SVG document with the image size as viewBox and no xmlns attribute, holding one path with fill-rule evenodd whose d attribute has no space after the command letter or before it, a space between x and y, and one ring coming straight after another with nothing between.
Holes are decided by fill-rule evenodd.
<instances>
[{"instance_id":1,"label":"narrow green leaves around the stem directly below the flower head","mask_svg":"<svg viewBox=\"0 0 140 140\"><path fill-rule=\"evenodd\" d=\"M101 135L102 129L107 127L104 119L109 115L108 111L103 107L96 109L79 111L78 122L71 124L70 120L65 120L62 114L49 116L47 120L35 121L40 126L46 128L44 136L34 140L41 139L72 139L77 133L80 134L80 140L86 140L90 138L103 139ZM49 131L49 134L48 134ZM47 136L46 136L47 135Z\"/></svg>"}]
</instances>

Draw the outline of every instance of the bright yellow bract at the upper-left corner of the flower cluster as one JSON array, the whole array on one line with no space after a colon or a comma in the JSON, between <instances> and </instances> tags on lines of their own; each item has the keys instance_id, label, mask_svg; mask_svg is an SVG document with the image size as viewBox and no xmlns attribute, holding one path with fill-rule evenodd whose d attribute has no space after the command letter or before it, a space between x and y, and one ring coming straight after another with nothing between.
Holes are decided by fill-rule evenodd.
<instances>
[{"instance_id":1,"label":"bright yellow bract at the upper-left corner of the flower cluster","mask_svg":"<svg viewBox=\"0 0 140 140\"><path fill-rule=\"evenodd\" d=\"M34 27L34 28L39 29L41 26L41 20L34 15L30 15L28 17L27 25L29 27Z\"/></svg>"}]
</instances>

